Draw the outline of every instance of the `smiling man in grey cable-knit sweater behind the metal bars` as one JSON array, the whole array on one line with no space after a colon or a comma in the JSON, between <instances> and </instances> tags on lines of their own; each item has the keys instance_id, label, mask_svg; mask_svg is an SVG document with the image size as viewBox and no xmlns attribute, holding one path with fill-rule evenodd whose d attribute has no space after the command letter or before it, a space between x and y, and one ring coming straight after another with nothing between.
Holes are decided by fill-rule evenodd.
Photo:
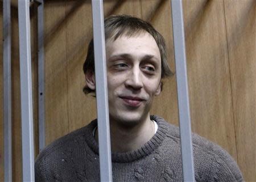
<instances>
[{"instance_id":1,"label":"smiling man in grey cable-knit sweater behind the metal bars","mask_svg":"<svg viewBox=\"0 0 256 182\"><path fill-rule=\"evenodd\" d=\"M179 129L150 115L162 78L171 75L163 37L127 15L105 20L113 181L183 181ZM86 94L96 90L93 41L84 64ZM51 143L35 164L36 181L100 181L97 120ZM243 181L223 149L195 134L196 181Z\"/></svg>"}]
</instances>

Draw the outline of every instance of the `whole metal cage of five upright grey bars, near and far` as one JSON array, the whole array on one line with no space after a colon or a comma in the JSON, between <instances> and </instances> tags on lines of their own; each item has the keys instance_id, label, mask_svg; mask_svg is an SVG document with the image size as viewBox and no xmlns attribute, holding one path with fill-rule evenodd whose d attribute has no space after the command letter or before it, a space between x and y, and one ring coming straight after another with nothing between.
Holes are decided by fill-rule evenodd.
<instances>
[{"instance_id":1,"label":"whole metal cage of five upright grey bars, near and far","mask_svg":"<svg viewBox=\"0 0 256 182\"><path fill-rule=\"evenodd\" d=\"M44 1L35 0L38 6L38 83L39 83L39 150L45 146L44 126L44 43L43 11ZM11 20L10 1L3 1L3 74L4 74L4 138L5 138L5 181L11 180ZM20 52L20 94L22 108L22 158L23 181L35 181L34 176L34 129L32 117L32 83L30 50L30 0L18 1L19 16L19 52ZM187 83L187 66L183 12L181 0L172 0L172 23L176 62L177 93L181 136L181 154L184 181L195 181L193 152L191 141L191 121ZM104 36L103 2L92 1L93 36L96 67L97 117L100 146L101 181L112 181L112 163L110 151L108 90L106 82L106 55ZM99 86L97 86L99 85ZM99 105L101 108L99 109ZM104 155L103 155L104 154Z\"/></svg>"}]
</instances>

